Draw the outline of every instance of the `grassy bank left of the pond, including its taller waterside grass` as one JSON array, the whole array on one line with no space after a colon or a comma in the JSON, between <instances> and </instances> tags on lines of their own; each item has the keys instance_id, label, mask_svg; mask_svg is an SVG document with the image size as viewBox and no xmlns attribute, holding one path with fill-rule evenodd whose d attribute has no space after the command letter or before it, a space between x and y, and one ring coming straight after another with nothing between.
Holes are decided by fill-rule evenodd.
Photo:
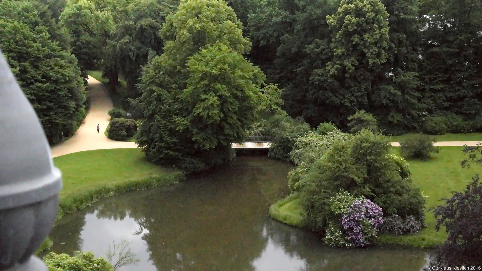
<instances>
[{"instance_id":1,"label":"grassy bank left of the pond, including its taller waterside grass","mask_svg":"<svg viewBox=\"0 0 482 271\"><path fill-rule=\"evenodd\" d=\"M57 219L83 209L101 198L178 183L181 172L148 163L140 149L97 149L54 158L62 171ZM46 239L41 250L52 245Z\"/></svg>"}]
</instances>

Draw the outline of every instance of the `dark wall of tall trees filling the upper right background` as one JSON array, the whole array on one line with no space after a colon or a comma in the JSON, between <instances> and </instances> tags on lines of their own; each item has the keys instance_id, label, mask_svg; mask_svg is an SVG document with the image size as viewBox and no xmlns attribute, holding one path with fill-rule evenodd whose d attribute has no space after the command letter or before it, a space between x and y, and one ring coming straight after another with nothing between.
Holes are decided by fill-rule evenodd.
<instances>
[{"instance_id":1,"label":"dark wall of tall trees filling the upper right background","mask_svg":"<svg viewBox=\"0 0 482 271\"><path fill-rule=\"evenodd\" d=\"M345 130L362 109L386 134L424 130L427 114L480 115L480 0L250 6L251 58L284 89L285 110L312 127L331 121Z\"/></svg>"}]
</instances>

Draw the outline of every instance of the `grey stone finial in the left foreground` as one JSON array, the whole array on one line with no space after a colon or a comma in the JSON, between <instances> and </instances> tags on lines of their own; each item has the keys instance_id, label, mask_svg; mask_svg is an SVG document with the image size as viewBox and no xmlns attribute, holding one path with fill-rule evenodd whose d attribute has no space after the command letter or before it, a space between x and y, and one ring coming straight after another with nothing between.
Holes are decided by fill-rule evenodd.
<instances>
[{"instance_id":1,"label":"grey stone finial in the left foreground","mask_svg":"<svg viewBox=\"0 0 482 271\"><path fill-rule=\"evenodd\" d=\"M0 51L0 271L47 271L32 254L49 234L62 176L37 115Z\"/></svg>"}]
</instances>

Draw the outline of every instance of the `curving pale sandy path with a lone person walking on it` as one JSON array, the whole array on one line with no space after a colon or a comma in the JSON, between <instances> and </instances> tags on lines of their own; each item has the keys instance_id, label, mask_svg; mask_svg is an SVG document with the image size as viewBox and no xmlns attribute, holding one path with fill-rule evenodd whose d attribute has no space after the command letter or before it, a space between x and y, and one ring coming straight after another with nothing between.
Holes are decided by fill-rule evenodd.
<instances>
[{"instance_id":1,"label":"curving pale sandy path with a lone person walking on it","mask_svg":"<svg viewBox=\"0 0 482 271\"><path fill-rule=\"evenodd\" d=\"M75 135L51 149L52 157L92 149L137 148L134 142L114 141L104 135L110 120L107 112L113 107L112 101L107 95L107 90L99 81L91 76L88 81L91 108L87 117ZM97 133L97 124L100 126L99 133Z\"/></svg>"}]
</instances>

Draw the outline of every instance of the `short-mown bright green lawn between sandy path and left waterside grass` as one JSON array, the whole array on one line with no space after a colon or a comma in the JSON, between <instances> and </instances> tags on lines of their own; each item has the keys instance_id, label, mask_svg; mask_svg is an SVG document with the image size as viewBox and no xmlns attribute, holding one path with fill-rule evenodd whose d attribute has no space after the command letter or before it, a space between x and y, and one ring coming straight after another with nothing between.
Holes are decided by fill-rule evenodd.
<instances>
[{"instance_id":1,"label":"short-mown bright green lawn between sandy path and left waterside grass","mask_svg":"<svg viewBox=\"0 0 482 271\"><path fill-rule=\"evenodd\" d=\"M148 163L140 149L97 149L54 158L62 171L60 198L104 185L162 175L173 170Z\"/></svg>"}]
</instances>

